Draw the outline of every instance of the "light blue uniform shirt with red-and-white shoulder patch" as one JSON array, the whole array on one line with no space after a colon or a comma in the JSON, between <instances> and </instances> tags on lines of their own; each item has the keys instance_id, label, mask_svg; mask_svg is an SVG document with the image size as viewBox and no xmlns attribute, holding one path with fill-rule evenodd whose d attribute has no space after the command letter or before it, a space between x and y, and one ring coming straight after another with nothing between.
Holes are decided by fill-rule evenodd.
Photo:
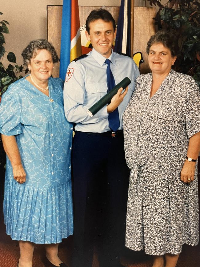
<instances>
[{"instance_id":1,"label":"light blue uniform shirt with red-and-white shoulder patch","mask_svg":"<svg viewBox=\"0 0 200 267\"><path fill-rule=\"evenodd\" d=\"M110 131L107 106L93 117L87 114L87 110L107 93L106 58L94 48L87 55L83 59L71 62L68 67L64 84L65 115L68 121L76 123L76 131L102 133ZM140 73L130 57L112 51L109 59L115 84L125 77L131 80L128 92L118 106L120 119L118 129L121 130L123 128L122 115L134 91L135 79Z\"/></svg>"}]
</instances>

